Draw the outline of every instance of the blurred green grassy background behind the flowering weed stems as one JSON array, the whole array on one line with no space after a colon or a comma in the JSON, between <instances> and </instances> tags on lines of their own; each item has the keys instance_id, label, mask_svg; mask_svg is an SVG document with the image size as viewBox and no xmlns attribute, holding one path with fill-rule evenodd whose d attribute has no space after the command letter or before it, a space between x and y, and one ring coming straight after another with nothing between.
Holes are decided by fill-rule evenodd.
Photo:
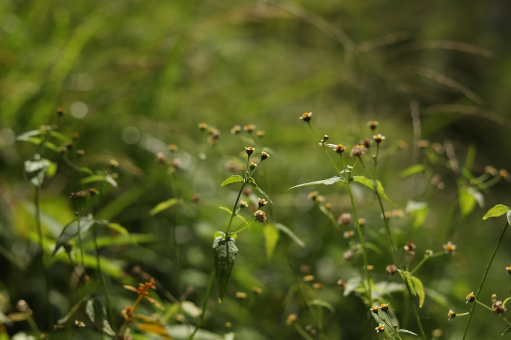
<instances>
[{"instance_id":1,"label":"blurred green grassy background behind the flowering weed stems","mask_svg":"<svg viewBox=\"0 0 511 340\"><path fill-rule=\"evenodd\" d=\"M298 119L312 111L316 132L346 146L370 137L368 120L380 121L377 132L386 140L379 176L388 196L402 210L409 200L429 204L420 228L410 227L410 216L393 221L400 249L409 239L419 247L418 256L426 249L441 249L448 240L458 246L452 260L432 260L420 276L447 299L433 301L433 293L428 296L421 311L428 336L442 329L440 338L459 339L466 319L447 323L447 311L468 308L464 297L476 290L504 223L481 218L494 204L509 205L509 183L481 190L484 207L476 206L462 216L455 203L459 173L434 164L414 143L427 139L444 149L452 146L461 167L473 146L476 156L470 170L476 177L487 165L511 170L510 10L507 0L3 0L0 244L4 256L0 258L4 293L12 304L18 299L29 301L36 321L44 315L41 273L30 275L37 265L31 259L37 250L30 239L33 188L23 172L23 162L32 158L36 148L15 137L54 123L58 107L66 110L59 131L70 139L80 135L75 145L86 152L84 165L106 168L111 158L121 163L119 187L104 188L95 208L97 216L133 233L159 236L159 242L104 250L106 257L119 260L115 262L119 273L108 277L112 295L123 296L116 310L130 299L122 290L123 280L129 279L121 271L130 273L135 265L176 296L193 284L195 292L189 299L202 304L213 232L224 230L228 218L218 206L229 207L236 198L234 186L221 188L220 183L231 174L229 162L243 163L239 154L247 146L229 129L252 123L264 130L264 146L271 154L257 178L275 203L268 210L269 219L287 225L307 246L301 248L281 234L273 257L267 258L260 227L240 234L229 298L218 305L212 297L213 315L206 318L204 328L218 334L226 331L224 323L239 315L234 293L259 285L264 294L245 314L238 329L245 334L241 337L297 338L294 329L285 326L287 315L300 309L289 287L307 274L299 270L307 265L308 273L328 286L323 298L336 308L335 314L326 315L328 338L373 338L373 321L365 306L353 296L343 298L335 286L338 278L357 275L357 264L342 258L347 249L342 232L307 200L310 190L319 190L338 215L350 208L345 192L333 187L287 190L334 175L316 138ZM205 152L206 160L190 185L188 178L204 151L200 122L222 135ZM170 156L171 143L179 147L176 156L181 161L173 174L178 196L200 195L193 216L149 215L151 208L171 196L166 168L155 162L157 152ZM446 160L443 164L449 164L445 152L440 153ZM45 222L45 233L55 238L59 227L74 217L67 197L80 189L80 175L58 153L46 156L59 165L57 175L41 191L42 213L53 221L53 227ZM421 162L433 164L429 175L439 174L445 189L424 189L428 173L414 179L400 177L402 170ZM368 229L372 227L368 238L381 250L371 254L381 272L391 256L380 232L378 205L363 190L357 204ZM180 235L179 265L169 246L170 225L177 226ZM503 268L509 266L510 242L506 236L482 296L509 293ZM56 299L62 301L55 311L58 318L77 297L68 282L68 266L57 261L51 272ZM391 303L402 323L417 332L407 299L399 293L394 299ZM495 337L504 328L499 318L478 310L469 338Z\"/></svg>"}]
</instances>

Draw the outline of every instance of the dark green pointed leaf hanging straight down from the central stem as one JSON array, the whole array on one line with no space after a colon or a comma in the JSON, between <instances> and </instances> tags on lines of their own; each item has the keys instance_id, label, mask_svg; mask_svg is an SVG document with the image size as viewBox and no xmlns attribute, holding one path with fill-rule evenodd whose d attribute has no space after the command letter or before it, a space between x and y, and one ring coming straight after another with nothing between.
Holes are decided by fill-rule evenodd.
<instances>
[{"instance_id":1,"label":"dark green pointed leaf hanging straight down from the central stem","mask_svg":"<svg viewBox=\"0 0 511 340\"><path fill-rule=\"evenodd\" d=\"M230 273L233 270L234 259L238 254L238 247L233 238L218 237L213 242L215 254L215 276L218 286L218 302L222 302L229 282Z\"/></svg>"}]
</instances>

